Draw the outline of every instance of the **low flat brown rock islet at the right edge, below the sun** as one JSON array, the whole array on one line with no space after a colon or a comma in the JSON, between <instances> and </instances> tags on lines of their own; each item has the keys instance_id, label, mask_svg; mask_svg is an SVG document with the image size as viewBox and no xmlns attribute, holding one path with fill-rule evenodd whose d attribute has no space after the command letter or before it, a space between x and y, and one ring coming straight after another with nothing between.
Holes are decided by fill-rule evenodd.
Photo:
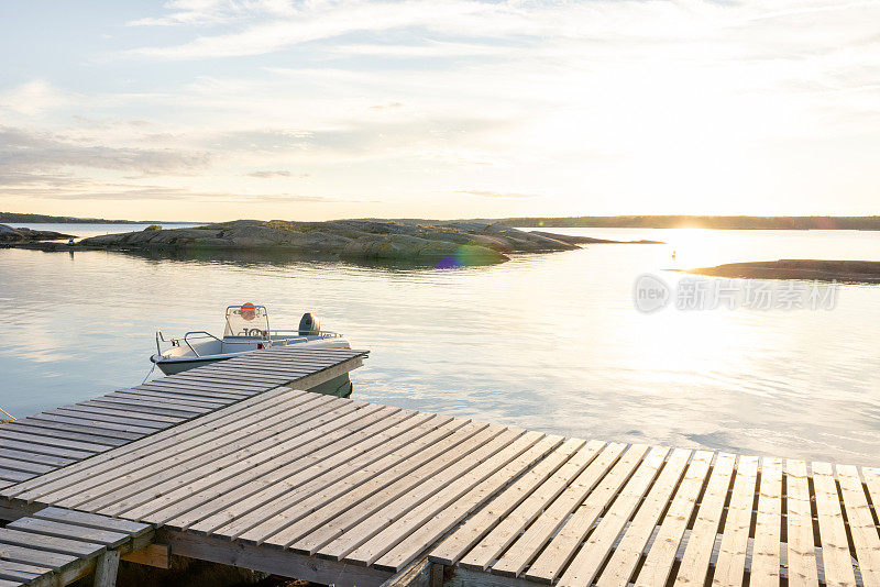
<instances>
[{"instance_id":1,"label":"low flat brown rock islet at the right edge, below the sun","mask_svg":"<svg viewBox=\"0 0 880 587\"><path fill-rule=\"evenodd\" d=\"M688 273L741 279L807 279L880 284L880 262L780 259L729 263L715 267L690 269Z\"/></svg>"}]
</instances>

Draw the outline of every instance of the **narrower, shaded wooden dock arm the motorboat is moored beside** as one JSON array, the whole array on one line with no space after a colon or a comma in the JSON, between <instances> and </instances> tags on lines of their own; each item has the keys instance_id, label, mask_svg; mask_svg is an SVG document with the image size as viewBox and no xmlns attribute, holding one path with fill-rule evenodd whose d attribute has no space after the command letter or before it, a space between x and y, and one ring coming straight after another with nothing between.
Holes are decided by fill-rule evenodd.
<instances>
[{"instance_id":1,"label":"narrower, shaded wooden dock arm the motorboat is moored beside","mask_svg":"<svg viewBox=\"0 0 880 587\"><path fill-rule=\"evenodd\" d=\"M0 425L0 488L25 481L278 386L310 389L364 351L276 347Z\"/></svg>"}]
</instances>

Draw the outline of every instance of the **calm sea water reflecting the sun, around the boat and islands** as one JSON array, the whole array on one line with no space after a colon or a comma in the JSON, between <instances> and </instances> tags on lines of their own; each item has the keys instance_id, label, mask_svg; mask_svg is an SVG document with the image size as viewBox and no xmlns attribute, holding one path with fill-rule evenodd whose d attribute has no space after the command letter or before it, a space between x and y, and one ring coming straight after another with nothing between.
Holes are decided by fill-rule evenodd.
<instances>
[{"instance_id":1,"label":"calm sea water reflecting the sun, around the boat and islands","mask_svg":"<svg viewBox=\"0 0 880 587\"><path fill-rule=\"evenodd\" d=\"M0 250L0 407L26 416L138 385L155 330L219 333L227 304L253 301L276 328L308 310L370 348L353 374L361 399L566 435L880 462L880 287L842 286L820 311L645 314L632 303L644 273L674 283L663 269L880 261L880 234L566 232L670 244L451 270Z\"/></svg>"}]
</instances>

